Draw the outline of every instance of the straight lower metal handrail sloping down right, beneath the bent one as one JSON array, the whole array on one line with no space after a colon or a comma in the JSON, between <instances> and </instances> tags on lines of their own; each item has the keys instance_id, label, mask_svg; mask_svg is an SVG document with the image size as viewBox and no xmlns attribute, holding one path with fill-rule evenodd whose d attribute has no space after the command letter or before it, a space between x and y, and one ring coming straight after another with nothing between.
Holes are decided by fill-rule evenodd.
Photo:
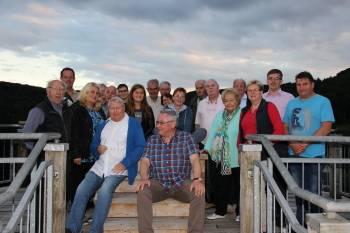
<instances>
[{"instance_id":1,"label":"straight lower metal handrail sloping down right, beneath the bent one","mask_svg":"<svg viewBox=\"0 0 350 233\"><path fill-rule=\"evenodd\" d=\"M280 204L280 206L283 210L283 213L285 213L286 218L287 218L289 224L291 225L291 227L293 228L293 230L296 232L307 233L307 230L303 226L300 225L297 218L295 217L292 209L288 205L287 200L284 198L281 190L279 189L274 178L272 177L271 173L269 172L269 170L266 166L266 163L263 164L263 162L261 162L261 161L255 161L255 166L257 166L260 169L263 176L265 177L266 182L269 184L271 191L275 194L276 199L277 199L278 203Z\"/></svg>"}]
</instances>

